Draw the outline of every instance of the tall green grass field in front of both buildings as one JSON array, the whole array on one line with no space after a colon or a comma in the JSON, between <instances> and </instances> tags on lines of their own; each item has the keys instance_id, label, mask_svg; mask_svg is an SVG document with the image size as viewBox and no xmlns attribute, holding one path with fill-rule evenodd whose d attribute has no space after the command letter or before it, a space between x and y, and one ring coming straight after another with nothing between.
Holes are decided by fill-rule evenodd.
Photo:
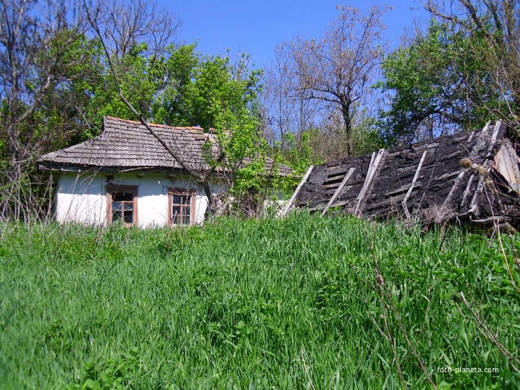
<instances>
[{"instance_id":1,"label":"tall green grass field in front of both buildings","mask_svg":"<svg viewBox=\"0 0 520 390\"><path fill-rule=\"evenodd\" d=\"M520 294L499 241L443 236L308 215L4 227L0 388L431 388L424 371L438 388L518 388Z\"/></svg>"}]
</instances>

